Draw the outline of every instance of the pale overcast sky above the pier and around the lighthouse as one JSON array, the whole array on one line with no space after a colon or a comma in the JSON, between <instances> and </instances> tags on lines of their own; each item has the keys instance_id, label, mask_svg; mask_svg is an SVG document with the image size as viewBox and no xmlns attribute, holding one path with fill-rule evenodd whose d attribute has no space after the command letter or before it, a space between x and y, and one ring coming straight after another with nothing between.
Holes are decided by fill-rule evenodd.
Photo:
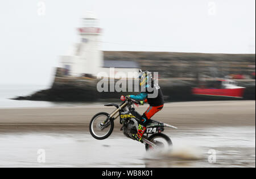
<instances>
[{"instance_id":1,"label":"pale overcast sky above the pier and around the lighthouse","mask_svg":"<svg viewBox=\"0 0 256 179\"><path fill-rule=\"evenodd\" d=\"M0 2L0 84L50 85L93 11L101 50L255 53L254 0Z\"/></svg>"}]
</instances>

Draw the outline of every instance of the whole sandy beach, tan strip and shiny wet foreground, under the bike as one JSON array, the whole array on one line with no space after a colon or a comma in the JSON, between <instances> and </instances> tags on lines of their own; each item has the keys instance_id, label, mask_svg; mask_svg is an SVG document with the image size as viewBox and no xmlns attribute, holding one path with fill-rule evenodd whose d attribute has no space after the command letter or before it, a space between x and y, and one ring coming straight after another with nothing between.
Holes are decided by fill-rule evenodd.
<instances>
[{"instance_id":1,"label":"whole sandy beach, tan strip and shiny wet foreground, under the bike","mask_svg":"<svg viewBox=\"0 0 256 179\"><path fill-rule=\"evenodd\" d=\"M146 106L138 108L143 112ZM146 152L123 136L119 121L105 140L88 124L102 105L0 109L0 167L255 167L255 101L169 103L154 119L166 129L172 151ZM46 162L38 162L38 150ZM212 152L216 161L209 162Z\"/></svg>"}]
</instances>

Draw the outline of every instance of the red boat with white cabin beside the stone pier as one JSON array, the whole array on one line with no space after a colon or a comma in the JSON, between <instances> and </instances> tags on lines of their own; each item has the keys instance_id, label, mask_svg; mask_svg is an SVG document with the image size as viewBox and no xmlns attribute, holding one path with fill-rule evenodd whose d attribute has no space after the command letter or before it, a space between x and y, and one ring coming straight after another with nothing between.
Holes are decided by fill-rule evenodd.
<instances>
[{"instance_id":1,"label":"red boat with white cabin beside the stone pier","mask_svg":"<svg viewBox=\"0 0 256 179\"><path fill-rule=\"evenodd\" d=\"M245 87L237 86L233 80L217 80L213 87L193 88L193 95L242 98Z\"/></svg>"}]
</instances>

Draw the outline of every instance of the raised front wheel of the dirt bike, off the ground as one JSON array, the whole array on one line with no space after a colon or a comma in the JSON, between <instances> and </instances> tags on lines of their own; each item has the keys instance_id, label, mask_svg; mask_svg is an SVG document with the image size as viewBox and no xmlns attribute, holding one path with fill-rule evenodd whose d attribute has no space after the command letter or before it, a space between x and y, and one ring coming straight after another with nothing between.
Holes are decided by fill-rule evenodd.
<instances>
[{"instance_id":1,"label":"raised front wheel of the dirt bike, off the ground","mask_svg":"<svg viewBox=\"0 0 256 179\"><path fill-rule=\"evenodd\" d=\"M92 137L103 140L109 137L112 134L114 129L114 121L109 118L108 113L98 113L93 116L90 121L90 134Z\"/></svg>"}]
</instances>

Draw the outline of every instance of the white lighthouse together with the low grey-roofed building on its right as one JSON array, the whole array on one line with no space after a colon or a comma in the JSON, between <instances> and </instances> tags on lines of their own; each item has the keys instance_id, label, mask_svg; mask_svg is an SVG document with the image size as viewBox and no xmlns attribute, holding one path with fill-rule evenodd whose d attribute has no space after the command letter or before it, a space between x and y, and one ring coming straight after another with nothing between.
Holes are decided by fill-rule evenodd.
<instances>
[{"instance_id":1,"label":"white lighthouse together with the low grey-roofed building on its right","mask_svg":"<svg viewBox=\"0 0 256 179\"><path fill-rule=\"evenodd\" d=\"M97 76L105 78L110 74L125 73L128 78L137 78L139 65L135 61L104 60L100 50L102 29L98 27L98 19L93 12L86 12L81 18L81 27L77 28L80 42L72 46L66 56L61 56L61 69L67 76ZM110 70L114 68L114 70ZM133 73L129 77L129 73ZM118 75L114 78L119 78Z\"/></svg>"}]
</instances>

